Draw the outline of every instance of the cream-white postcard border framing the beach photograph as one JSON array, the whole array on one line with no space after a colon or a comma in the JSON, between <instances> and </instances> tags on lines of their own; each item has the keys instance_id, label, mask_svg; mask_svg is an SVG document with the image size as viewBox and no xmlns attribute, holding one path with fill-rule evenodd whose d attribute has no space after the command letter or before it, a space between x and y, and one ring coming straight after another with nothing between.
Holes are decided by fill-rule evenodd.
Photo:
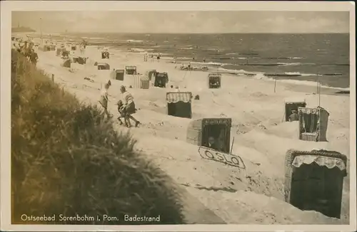
<instances>
[{"instance_id":1,"label":"cream-white postcard border framing the beach photograph","mask_svg":"<svg viewBox=\"0 0 357 232\"><path fill-rule=\"evenodd\" d=\"M355 231L356 31L355 3L299 1L1 1L1 230L2 231ZM349 11L350 12L350 224L349 225L11 225L11 11Z\"/></svg>"}]
</instances>

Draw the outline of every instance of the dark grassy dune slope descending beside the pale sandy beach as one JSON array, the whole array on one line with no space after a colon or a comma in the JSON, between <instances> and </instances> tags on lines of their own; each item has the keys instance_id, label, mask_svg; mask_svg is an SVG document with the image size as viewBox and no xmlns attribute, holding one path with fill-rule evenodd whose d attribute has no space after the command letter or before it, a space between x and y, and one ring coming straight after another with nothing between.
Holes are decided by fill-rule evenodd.
<instances>
[{"instance_id":1,"label":"dark grassy dune slope descending beside the pale sandy beach","mask_svg":"<svg viewBox=\"0 0 357 232\"><path fill-rule=\"evenodd\" d=\"M183 223L176 186L134 144L99 108L81 104L12 51L12 223ZM56 221L22 221L23 214ZM120 221L60 221L60 214ZM161 221L124 221L126 214Z\"/></svg>"}]
</instances>

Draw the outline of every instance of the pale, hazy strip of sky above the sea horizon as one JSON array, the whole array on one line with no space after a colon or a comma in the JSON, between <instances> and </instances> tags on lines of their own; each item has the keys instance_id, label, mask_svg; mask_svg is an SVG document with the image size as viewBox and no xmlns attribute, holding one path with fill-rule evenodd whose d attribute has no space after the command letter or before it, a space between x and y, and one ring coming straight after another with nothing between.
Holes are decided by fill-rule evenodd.
<instances>
[{"instance_id":1,"label":"pale, hazy strip of sky above the sea horizon","mask_svg":"<svg viewBox=\"0 0 357 232\"><path fill-rule=\"evenodd\" d=\"M348 33L348 11L12 11L13 27L99 33Z\"/></svg>"}]
</instances>

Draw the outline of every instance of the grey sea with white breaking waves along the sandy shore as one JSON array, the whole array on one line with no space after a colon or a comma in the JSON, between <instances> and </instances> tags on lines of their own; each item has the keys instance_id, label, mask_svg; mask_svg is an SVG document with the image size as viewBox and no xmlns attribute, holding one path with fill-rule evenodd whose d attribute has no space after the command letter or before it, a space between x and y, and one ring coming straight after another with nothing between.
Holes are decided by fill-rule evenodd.
<instances>
[{"instance_id":1,"label":"grey sea with white breaking waves along the sandy shore","mask_svg":"<svg viewBox=\"0 0 357 232\"><path fill-rule=\"evenodd\" d=\"M61 33L258 78L349 88L349 33ZM195 61L193 61L193 57Z\"/></svg>"}]
</instances>

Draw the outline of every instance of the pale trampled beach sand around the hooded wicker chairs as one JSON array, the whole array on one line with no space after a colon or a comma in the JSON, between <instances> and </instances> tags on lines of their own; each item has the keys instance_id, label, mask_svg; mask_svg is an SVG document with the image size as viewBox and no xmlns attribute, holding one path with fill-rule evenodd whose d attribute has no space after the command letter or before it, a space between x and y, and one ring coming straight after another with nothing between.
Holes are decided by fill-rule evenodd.
<instances>
[{"instance_id":1,"label":"pale trampled beach sand around the hooded wicker chairs","mask_svg":"<svg viewBox=\"0 0 357 232\"><path fill-rule=\"evenodd\" d=\"M298 123L282 122L284 98L300 97L308 107L318 105L316 86L274 82L236 75L222 75L221 89L208 89L207 72L186 72L175 68L175 64L161 59L144 62L137 53L110 50L111 58L101 60L101 51L96 47L86 48L86 65L72 63L61 67L61 58L55 51L41 52L38 67L54 74L54 81L74 93L79 100L98 105L101 88L113 68L136 65L139 73L156 69L169 73L168 88L149 90L132 89L136 108L134 115L141 122L138 128L127 129L117 122L115 127L123 132L130 130L138 140L136 149L144 152L148 159L164 169L174 181L226 223L239 224L291 224L291 223L348 223L349 176L345 178L341 220L328 218L315 211L301 211L284 202L284 160L288 149L329 149L349 156L349 95L331 94L326 88L321 93L321 106L330 113L328 142L306 142L298 140ZM94 62L106 62L111 70L96 70ZM84 80L87 75L94 82ZM109 89L109 111L118 115L116 102L121 99L119 87L127 83L111 80ZM203 117L231 117L234 137L233 154L239 155L246 169L227 166L220 162L202 159L198 147L186 142L189 119L166 115L166 92L170 85L181 91L199 95L193 100L193 120ZM326 91L326 92L323 92ZM330 94L324 94L330 93ZM116 117L114 117L116 118Z\"/></svg>"}]
</instances>

